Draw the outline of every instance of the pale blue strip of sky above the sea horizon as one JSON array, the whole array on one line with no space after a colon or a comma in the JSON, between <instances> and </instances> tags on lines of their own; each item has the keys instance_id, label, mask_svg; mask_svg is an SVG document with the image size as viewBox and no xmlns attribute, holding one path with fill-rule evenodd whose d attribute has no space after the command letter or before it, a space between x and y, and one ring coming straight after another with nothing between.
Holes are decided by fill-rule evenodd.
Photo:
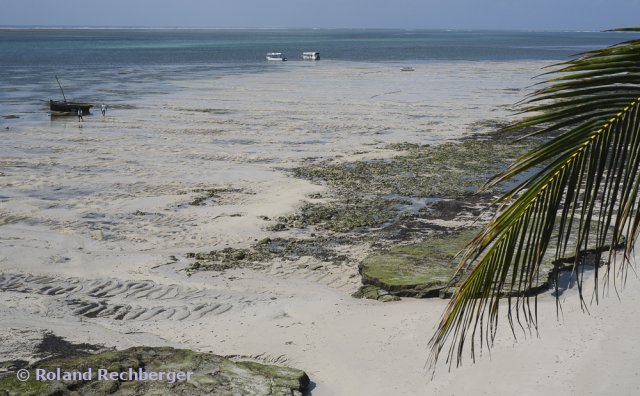
<instances>
[{"instance_id":1,"label":"pale blue strip of sky above the sea horizon","mask_svg":"<svg viewBox=\"0 0 640 396\"><path fill-rule=\"evenodd\" d=\"M0 26L604 30L640 0L0 0Z\"/></svg>"}]
</instances>

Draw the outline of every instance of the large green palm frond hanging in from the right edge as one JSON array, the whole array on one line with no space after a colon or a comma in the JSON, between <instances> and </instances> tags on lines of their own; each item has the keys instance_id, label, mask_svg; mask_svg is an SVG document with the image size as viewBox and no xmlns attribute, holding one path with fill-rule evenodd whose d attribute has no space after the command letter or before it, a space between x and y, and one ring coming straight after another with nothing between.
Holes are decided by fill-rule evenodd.
<instances>
[{"instance_id":1,"label":"large green palm frond hanging in from the right edge","mask_svg":"<svg viewBox=\"0 0 640 396\"><path fill-rule=\"evenodd\" d=\"M507 128L537 127L533 134L556 136L487 184L538 170L497 201L495 217L462 255L455 277L461 281L430 341L432 363L445 345L447 361L457 365L467 341L473 359L478 343L490 347L505 295L512 330L516 322L535 327L536 297L528 291L546 276L548 250L556 263L572 255L577 273L581 252L610 246L605 276L625 274L640 233L640 40L589 51L556 68L556 77L524 101L529 116ZM613 247L621 244L624 260L617 265ZM578 290L584 303L581 277Z\"/></svg>"}]
</instances>

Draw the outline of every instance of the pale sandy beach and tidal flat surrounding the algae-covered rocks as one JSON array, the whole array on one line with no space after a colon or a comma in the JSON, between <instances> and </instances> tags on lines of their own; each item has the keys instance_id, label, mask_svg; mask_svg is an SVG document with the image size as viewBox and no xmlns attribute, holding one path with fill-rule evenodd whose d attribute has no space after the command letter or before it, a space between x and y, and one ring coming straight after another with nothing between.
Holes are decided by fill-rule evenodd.
<instances>
[{"instance_id":1,"label":"pale sandy beach and tidal flat surrounding the algae-covered rocks","mask_svg":"<svg viewBox=\"0 0 640 396\"><path fill-rule=\"evenodd\" d=\"M105 118L95 111L82 128L74 118L3 120L0 359L31 359L51 331L119 349L171 345L289 365L309 374L313 395L639 394L633 274L620 300L611 291L590 315L570 290L557 320L554 297L542 295L540 338L514 343L503 321L491 356L451 372L443 365L432 380L427 343L446 301L350 297L368 245L345 252L346 266L309 257L184 272L187 253L272 236L265 218L325 189L284 169L488 132L485 121L507 120L546 64L431 63L407 73L292 62L175 81L175 92ZM189 204L211 188L228 191Z\"/></svg>"}]
</instances>

